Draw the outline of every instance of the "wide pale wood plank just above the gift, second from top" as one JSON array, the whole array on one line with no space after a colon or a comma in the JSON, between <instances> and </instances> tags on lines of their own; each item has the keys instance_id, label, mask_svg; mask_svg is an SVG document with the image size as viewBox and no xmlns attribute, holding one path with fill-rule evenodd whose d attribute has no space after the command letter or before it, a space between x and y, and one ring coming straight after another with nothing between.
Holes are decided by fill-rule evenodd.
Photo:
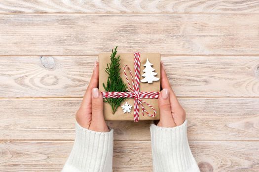
<instances>
[{"instance_id":1,"label":"wide pale wood plank just above the gift, second from top","mask_svg":"<svg viewBox=\"0 0 259 172\"><path fill-rule=\"evenodd\" d=\"M258 55L258 19L259 14L0 15L0 55L96 55L116 45L125 53Z\"/></svg>"}]
</instances>

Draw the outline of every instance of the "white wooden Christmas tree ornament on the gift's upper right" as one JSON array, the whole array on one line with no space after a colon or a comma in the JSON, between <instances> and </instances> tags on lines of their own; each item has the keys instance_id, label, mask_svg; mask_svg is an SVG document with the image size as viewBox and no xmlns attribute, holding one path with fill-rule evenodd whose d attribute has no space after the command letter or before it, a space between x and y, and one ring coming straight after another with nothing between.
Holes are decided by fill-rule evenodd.
<instances>
[{"instance_id":1,"label":"white wooden Christmas tree ornament on the gift's upper right","mask_svg":"<svg viewBox=\"0 0 259 172\"><path fill-rule=\"evenodd\" d=\"M147 58L147 62L144 64L145 69L143 70L143 72L145 73L142 75L145 78L141 80L142 83L148 82L148 84L150 84L150 83L153 83L153 81L159 80L159 78L155 77L157 73L153 72L155 69L151 67L152 65L153 64L150 63Z\"/></svg>"}]
</instances>

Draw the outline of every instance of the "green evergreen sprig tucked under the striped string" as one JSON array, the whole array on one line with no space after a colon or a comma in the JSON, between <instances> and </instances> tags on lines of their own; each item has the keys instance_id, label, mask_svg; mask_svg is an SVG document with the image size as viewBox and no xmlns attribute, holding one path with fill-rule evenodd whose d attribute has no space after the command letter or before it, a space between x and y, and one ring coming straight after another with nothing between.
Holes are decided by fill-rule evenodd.
<instances>
[{"instance_id":1,"label":"green evergreen sprig tucked under the striped string","mask_svg":"<svg viewBox=\"0 0 259 172\"><path fill-rule=\"evenodd\" d=\"M105 72L108 73L107 85L103 83L105 91L118 91L125 92L127 91L127 85L124 84L120 77L120 56L116 57L117 47L115 47L114 51L111 50L111 62L109 65L107 64L107 68ZM105 98L105 102L108 102L111 105L112 114L114 114L120 104L125 101L127 98Z\"/></svg>"}]
</instances>

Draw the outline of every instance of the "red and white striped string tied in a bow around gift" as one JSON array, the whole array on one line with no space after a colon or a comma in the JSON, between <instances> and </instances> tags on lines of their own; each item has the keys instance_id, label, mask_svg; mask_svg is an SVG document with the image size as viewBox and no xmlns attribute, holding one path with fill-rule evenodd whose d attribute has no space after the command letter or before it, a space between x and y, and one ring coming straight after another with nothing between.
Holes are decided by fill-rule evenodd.
<instances>
[{"instance_id":1,"label":"red and white striped string tied in a bow around gift","mask_svg":"<svg viewBox=\"0 0 259 172\"><path fill-rule=\"evenodd\" d=\"M128 69L131 77L131 83L129 82L128 76L126 69ZM141 106L142 114L144 115L145 113L148 116L154 117L156 115L155 109L148 104L146 101L142 99L157 99L159 95L159 91L140 91L140 53L134 53L134 74L135 74L135 80L133 79L132 72L130 68L125 65L124 66L124 76L127 80L128 87L127 89L129 92L116 92L116 91L104 91L102 92L103 98L134 98L134 121L138 122L139 121L139 105ZM150 107L153 110L153 114L150 115L148 111L145 109L143 104L146 104L148 107Z\"/></svg>"}]
</instances>

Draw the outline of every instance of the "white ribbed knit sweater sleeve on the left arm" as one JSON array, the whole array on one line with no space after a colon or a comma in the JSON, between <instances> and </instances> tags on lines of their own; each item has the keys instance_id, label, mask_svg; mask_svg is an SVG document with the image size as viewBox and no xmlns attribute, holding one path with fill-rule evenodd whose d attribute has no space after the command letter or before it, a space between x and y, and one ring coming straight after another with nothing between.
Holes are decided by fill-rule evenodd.
<instances>
[{"instance_id":1,"label":"white ribbed knit sweater sleeve on the left arm","mask_svg":"<svg viewBox=\"0 0 259 172\"><path fill-rule=\"evenodd\" d=\"M112 172L113 130L95 132L75 124L75 141L62 172Z\"/></svg>"}]
</instances>

